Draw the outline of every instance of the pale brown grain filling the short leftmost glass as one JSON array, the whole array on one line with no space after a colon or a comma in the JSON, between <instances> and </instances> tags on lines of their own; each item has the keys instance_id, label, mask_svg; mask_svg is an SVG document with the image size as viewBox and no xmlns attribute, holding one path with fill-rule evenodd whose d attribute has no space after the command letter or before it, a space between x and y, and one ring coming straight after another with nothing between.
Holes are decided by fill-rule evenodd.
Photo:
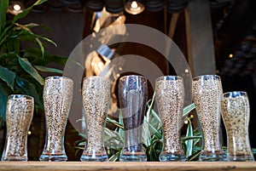
<instances>
[{"instance_id":1,"label":"pale brown grain filling the short leftmost glass","mask_svg":"<svg viewBox=\"0 0 256 171\"><path fill-rule=\"evenodd\" d=\"M3 160L26 156L26 137L32 122L33 109L33 99L24 95L13 95L7 101L7 144Z\"/></svg>"}]
</instances>

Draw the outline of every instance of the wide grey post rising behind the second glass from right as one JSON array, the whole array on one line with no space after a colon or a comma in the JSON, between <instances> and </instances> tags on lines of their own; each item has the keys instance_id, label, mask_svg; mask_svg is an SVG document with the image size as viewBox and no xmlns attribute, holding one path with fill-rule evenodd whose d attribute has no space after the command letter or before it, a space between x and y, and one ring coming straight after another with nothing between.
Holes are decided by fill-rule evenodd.
<instances>
[{"instance_id":1,"label":"wide grey post rising behind the second glass from right","mask_svg":"<svg viewBox=\"0 0 256 171\"><path fill-rule=\"evenodd\" d=\"M188 60L192 75L215 74L216 62L209 2L189 1L185 9Z\"/></svg>"}]
</instances>

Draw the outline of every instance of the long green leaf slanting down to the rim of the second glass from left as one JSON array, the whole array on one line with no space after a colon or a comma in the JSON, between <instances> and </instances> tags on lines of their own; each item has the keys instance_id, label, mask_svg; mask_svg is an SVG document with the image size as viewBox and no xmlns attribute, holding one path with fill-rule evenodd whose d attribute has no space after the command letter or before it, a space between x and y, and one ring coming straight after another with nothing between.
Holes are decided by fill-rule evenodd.
<instances>
[{"instance_id":1,"label":"long green leaf slanting down to the rim of the second glass from left","mask_svg":"<svg viewBox=\"0 0 256 171\"><path fill-rule=\"evenodd\" d=\"M33 78L35 78L38 83L44 85L44 78L40 76L38 71L32 66L32 64L26 58L18 58L20 66L29 73Z\"/></svg>"}]
</instances>

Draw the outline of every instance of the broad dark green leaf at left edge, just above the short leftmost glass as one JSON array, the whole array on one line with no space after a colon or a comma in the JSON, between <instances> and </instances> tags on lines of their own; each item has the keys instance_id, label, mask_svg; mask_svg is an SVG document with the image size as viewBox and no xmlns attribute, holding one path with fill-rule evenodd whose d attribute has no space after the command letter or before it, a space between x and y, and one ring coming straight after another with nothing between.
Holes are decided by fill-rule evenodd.
<instances>
[{"instance_id":1,"label":"broad dark green leaf at left edge, just above the short leftmost glass","mask_svg":"<svg viewBox=\"0 0 256 171\"><path fill-rule=\"evenodd\" d=\"M8 68L0 66L0 78L7 83L9 88L14 90L15 85L15 77L16 73L14 71L10 71Z\"/></svg>"}]
</instances>

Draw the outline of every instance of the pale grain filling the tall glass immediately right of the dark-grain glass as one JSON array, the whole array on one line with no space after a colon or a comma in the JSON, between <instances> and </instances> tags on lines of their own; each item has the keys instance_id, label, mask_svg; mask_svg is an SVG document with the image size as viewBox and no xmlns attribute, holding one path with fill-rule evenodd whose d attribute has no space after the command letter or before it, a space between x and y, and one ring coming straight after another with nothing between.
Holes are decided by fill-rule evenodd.
<instances>
[{"instance_id":1,"label":"pale grain filling the tall glass immediately right of the dark-grain glass","mask_svg":"<svg viewBox=\"0 0 256 171\"><path fill-rule=\"evenodd\" d=\"M184 102L183 80L159 80L155 84L155 92L164 132L164 152L183 154L180 145Z\"/></svg>"}]
</instances>

